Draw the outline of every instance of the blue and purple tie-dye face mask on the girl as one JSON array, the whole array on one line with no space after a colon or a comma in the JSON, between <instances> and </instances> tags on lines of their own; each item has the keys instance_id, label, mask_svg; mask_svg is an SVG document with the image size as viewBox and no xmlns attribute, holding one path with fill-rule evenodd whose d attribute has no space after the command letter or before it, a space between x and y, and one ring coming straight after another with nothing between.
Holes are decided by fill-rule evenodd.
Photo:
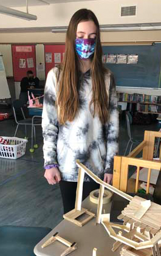
<instances>
[{"instance_id":1,"label":"blue and purple tie-dye face mask on the girl","mask_svg":"<svg viewBox=\"0 0 161 256\"><path fill-rule=\"evenodd\" d=\"M87 60L95 51L95 38L76 38L75 50L81 60Z\"/></svg>"}]
</instances>

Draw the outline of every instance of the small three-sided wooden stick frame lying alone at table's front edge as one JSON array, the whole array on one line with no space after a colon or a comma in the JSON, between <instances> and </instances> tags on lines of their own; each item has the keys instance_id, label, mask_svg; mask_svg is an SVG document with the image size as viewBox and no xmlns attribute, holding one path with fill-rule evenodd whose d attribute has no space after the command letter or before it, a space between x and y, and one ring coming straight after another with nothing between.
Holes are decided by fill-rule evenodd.
<instances>
[{"instance_id":1,"label":"small three-sided wooden stick frame lying alone at table's front edge","mask_svg":"<svg viewBox=\"0 0 161 256\"><path fill-rule=\"evenodd\" d=\"M69 241L65 240L64 238L60 237L58 235L58 232L55 233L52 237L49 238L49 240L47 240L41 247L44 248L46 246L49 246L49 244L54 243L55 241L60 241L61 243L65 244L68 248L61 254L61 256L66 256L68 254L70 254L70 252L73 252L77 249L77 244L74 243L70 243Z\"/></svg>"}]
</instances>

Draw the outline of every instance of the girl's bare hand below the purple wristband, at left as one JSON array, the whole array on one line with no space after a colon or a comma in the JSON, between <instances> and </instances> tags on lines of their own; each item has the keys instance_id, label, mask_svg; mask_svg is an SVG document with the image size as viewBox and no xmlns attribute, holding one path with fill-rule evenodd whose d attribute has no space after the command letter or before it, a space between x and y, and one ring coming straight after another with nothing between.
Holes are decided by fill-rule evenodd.
<instances>
[{"instance_id":1,"label":"girl's bare hand below the purple wristband, at left","mask_svg":"<svg viewBox=\"0 0 161 256\"><path fill-rule=\"evenodd\" d=\"M57 184L61 181L60 171L56 167L47 169L44 173L44 177L50 185Z\"/></svg>"}]
</instances>

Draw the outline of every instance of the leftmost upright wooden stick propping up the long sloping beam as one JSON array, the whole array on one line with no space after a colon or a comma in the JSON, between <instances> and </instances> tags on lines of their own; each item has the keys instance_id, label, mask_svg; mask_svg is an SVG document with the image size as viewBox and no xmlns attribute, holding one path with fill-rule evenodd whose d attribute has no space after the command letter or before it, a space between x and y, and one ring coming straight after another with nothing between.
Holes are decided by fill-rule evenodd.
<instances>
[{"instance_id":1,"label":"leftmost upright wooden stick propping up the long sloping beam","mask_svg":"<svg viewBox=\"0 0 161 256\"><path fill-rule=\"evenodd\" d=\"M83 181L84 181L84 170L83 170L83 168L80 167L79 174L78 174L76 199L75 199L75 210L81 210L81 201L82 201L82 194L83 194Z\"/></svg>"}]
</instances>

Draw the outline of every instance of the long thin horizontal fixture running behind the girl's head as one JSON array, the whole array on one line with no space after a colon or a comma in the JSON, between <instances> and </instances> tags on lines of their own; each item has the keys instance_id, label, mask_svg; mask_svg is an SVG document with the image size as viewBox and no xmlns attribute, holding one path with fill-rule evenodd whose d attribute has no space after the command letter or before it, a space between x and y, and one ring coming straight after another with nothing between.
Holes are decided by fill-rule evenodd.
<instances>
[{"instance_id":1,"label":"long thin horizontal fixture running behind the girl's head","mask_svg":"<svg viewBox=\"0 0 161 256\"><path fill-rule=\"evenodd\" d=\"M136 23L136 24L117 24L117 25L100 25L101 32L108 31L135 31L135 30L161 30L161 23ZM52 33L65 33L67 26L53 27Z\"/></svg>"}]
</instances>

